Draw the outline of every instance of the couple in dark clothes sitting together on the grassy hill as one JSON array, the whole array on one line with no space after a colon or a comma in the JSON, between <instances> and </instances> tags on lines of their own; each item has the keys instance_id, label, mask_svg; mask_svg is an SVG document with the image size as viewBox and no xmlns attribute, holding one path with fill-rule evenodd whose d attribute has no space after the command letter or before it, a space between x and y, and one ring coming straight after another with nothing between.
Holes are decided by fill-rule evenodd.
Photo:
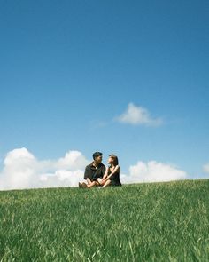
<instances>
[{"instance_id":1,"label":"couple in dark clothes sitting together on the grassy hill","mask_svg":"<svg viewBox=\"0 0 209 262\"><path fill-rule=\"evenodd\" d=\"M121 186L120 166L116 155L109 155L108 166L102 163L103 154L95 152L93 162L86 166L84 179L86 183L79 183L80 188Z\"/></svg>"}]
</instances>

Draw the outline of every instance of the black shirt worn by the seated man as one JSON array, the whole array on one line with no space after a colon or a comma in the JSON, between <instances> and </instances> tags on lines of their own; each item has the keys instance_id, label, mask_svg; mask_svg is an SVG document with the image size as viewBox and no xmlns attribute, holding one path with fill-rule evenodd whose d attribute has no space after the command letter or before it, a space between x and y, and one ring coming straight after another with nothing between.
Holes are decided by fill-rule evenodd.
<instances>
[{"instance_id":1,"label":"black shirt worn by the seated man","mask_svg":"<svg viewBox=\"0 0 209 262\"><path fill-rule=\"evenodd\" d=\"M90 179L93 181L97 180L98 178L102 179L105 169L106 168L103 163L99 163L97 168L93 165L93 163L90 163L86 166L84 179Z\"/></svg>"}]
</instances>

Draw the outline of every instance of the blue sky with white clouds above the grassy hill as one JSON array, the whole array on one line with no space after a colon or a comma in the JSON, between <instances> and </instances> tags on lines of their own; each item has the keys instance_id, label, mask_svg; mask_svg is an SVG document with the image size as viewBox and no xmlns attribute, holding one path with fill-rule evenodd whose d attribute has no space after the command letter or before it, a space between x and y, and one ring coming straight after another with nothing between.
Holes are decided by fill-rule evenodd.
<instances>
[{"instance_id":1,"label":"blue sky with white clouds above the grassy hill","mask_svg":"<svg viewBox=\"0 0 209 262\"><path fill-rule=\"evenodd\" d=\"M124 183L208 179L208 13L0 0L0 189L75 187L95 151Z\"/></svg>"}]
</instances>

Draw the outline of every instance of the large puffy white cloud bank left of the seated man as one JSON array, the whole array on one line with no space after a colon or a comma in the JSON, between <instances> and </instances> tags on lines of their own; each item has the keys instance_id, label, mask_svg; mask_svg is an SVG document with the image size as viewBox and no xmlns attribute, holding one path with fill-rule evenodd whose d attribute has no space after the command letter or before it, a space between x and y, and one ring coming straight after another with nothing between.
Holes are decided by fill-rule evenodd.
<instances>
[{"instance_id":1,"label":"large puffy white cloud bank left of the seated man","mask_svg":"<svg viewBox=\"0 0 209 262\"><path fill-rule=\"evenodd\" d=\"M89 161L79 151L58 160L39 161L27 148L9 152L0 171L0 189L76 187Z\"/></svg>"}]
</instances>

